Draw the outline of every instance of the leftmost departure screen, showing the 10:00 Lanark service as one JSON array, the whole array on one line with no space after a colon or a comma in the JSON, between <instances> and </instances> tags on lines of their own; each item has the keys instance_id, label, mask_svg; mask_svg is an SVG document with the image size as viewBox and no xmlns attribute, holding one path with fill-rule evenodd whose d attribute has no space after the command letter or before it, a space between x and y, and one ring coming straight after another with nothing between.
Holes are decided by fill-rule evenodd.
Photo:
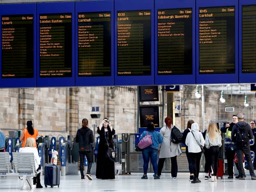
<instances>
[{"instance_id":1,"label":"leftmost departure screen, showing the 10:00 Lanark service","mask_svg":"<svg viewBox=\"0 0 256 192\"><path fill-rule=\"evenodd\" d=\"M2 78L33 78L33 14L2 15L1 20Z\"/></svg>"}]
</instances>

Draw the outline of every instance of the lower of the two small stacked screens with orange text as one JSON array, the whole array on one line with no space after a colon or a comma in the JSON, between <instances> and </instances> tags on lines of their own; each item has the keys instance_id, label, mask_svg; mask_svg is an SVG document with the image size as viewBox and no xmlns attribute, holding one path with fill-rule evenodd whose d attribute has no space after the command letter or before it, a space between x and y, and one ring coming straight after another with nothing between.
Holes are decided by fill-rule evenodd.
<instances>
[{"instance_id":1,"label":"lower of the two small stacked screens with orange text","mask_svg":"<svg viewBox=\"0 0 256 192\"><path fill-rule=\"evenodd\" d=\"M155 127L159 127L158 106L140 106L140 127L147 127L149 122L153 122Z\"/></svg>"}]
</instances>

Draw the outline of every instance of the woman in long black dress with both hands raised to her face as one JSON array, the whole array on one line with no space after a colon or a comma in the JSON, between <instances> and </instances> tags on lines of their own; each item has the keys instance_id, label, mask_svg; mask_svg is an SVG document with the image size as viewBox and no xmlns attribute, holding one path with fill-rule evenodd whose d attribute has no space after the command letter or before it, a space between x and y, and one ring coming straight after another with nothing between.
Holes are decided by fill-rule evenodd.
<instances>
[{"instance_id":1,"label":"woman in long black dress with both hands raised to her face","mask_svg":"<svg viewBox=\"0 0 256 192\"><path fill-rule=\"evenodd\" d=\"M115 130L111 126L108 118L104 118L97 128L97 133L100 135L100 142L98 147L98 156L96 164L96 178L97 179L114 179L115 178L115 164L107 156L108 147L114 149L113 135ZM107 141L108 140L108 144Z\"/></svg>"}]
</instances>

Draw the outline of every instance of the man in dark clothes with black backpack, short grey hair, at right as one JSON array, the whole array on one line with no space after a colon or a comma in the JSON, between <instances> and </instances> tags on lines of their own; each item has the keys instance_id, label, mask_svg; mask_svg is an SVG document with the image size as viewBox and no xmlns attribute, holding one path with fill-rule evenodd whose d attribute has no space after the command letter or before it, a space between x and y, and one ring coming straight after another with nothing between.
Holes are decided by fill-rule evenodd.
<instances>
[{"instance_id":1,"label":"man in dark clothes with black backpack, short grey hair, at right","mask_svg":"<svg viewBox=\"0 0 256 192\"><path fill-rule=\"evenodd\" d=\"M237 114L238 123L233 126L231 138L235 143L236 154L238 157L238 179L244 180L245 173L243 167L243 153L249 165L250 176L252 180L256 180L256 176L253 170L253 164L250 154L250 139L253 139L252 129L250 125L244 122L244 114Z\"/></svg>"}]
</instances>

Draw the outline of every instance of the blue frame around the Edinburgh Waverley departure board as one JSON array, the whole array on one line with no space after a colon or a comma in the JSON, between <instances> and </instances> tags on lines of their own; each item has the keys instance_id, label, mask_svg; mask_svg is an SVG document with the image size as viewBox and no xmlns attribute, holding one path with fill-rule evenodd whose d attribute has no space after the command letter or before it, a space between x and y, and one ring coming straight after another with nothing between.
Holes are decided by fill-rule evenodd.
<instances>
[{"instance_id":1,"label":"blue frame around the Edinburgh Waverley departure board","mask_svg":"<svg viewBox=\"0 0 256 192\"><path fill-rule=\"evenodd\" d=\"M192 74L186 75L158 75L158 9L192 8ZM196 46L195 46L195 20L196 20L195 0L155 0L154 12L154 39L155 39L155 85L169 84L195 84L196 83ZM166 69L168 70L168 69Z\"/></svg>"}]
</instances>

